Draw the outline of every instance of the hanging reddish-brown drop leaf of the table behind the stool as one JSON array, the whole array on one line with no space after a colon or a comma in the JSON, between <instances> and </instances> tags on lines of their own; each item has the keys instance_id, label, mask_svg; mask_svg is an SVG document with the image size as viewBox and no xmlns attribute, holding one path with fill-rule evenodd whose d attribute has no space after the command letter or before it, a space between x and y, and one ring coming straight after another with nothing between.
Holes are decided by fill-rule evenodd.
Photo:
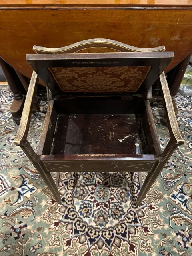
<instances>
[{"instance_id":1,"label":"hanging reddish-brown drop leaf of the table behind the stool","mask_svg":"<svg viewBox=\"0 0 192 256\"><path fill-rule=\"evenodd\" d=\"M2 2L2 1L1 1ZM166 72L192 52L191 10L0 10L0 56L30 78L25 60L34 44L62 47L109 38L136 47L165 45L175 58Z\"/></svg>"}]
</instances>

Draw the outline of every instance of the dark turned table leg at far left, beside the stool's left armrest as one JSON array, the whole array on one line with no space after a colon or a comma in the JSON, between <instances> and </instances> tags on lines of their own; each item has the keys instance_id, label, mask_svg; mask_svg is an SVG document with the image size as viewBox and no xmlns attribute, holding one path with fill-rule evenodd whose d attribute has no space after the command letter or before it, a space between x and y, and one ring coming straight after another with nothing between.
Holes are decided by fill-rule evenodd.
<instances>
[{"instance_id":1,"label":"dark turned table leg at far left, beside the stool's left armrest","mask_svg":"<svg viewBox=\"0 0 192 256\"><path fill-rule=\"evenodd\" d=\"M25 99L20 90L22 83L18 78L18 75L16 74L14 68L12 68L12 66L5 62L2 58L0 58L0 65L10 87L10 90L14 94L14 100L10 107L10 112L12 114L13 120L19 122L22 115Z\"/></svg>"}]
</instances>

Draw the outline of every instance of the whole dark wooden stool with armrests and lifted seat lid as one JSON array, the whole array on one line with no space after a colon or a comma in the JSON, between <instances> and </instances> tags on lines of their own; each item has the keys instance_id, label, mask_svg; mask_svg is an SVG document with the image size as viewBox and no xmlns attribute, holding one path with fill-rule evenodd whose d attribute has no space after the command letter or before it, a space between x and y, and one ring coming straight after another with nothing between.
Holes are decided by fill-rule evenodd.
<instances>
[{"instance_id":1,"label":"whole dark wooden stool with armrests and lifted seat lid","mask_svg":"<svg viewBox=\"0 0 192 256\"><path fill-rule=\"evenodd\" d=\"M34 46L34 69L14 144L41 174L58 203L60 172L138 172L140 204L178 145L180 134L164 69L173 52L92 39L63 48ZM99 53L97 53L99 52ZM38 77L48 111L37 154L27 134ZM161 152L151 88L160 80L170 141ZM57 172L56 184L50 172ZM148 172L142 185L141 172Z\"/></svg>"}]
</instances>

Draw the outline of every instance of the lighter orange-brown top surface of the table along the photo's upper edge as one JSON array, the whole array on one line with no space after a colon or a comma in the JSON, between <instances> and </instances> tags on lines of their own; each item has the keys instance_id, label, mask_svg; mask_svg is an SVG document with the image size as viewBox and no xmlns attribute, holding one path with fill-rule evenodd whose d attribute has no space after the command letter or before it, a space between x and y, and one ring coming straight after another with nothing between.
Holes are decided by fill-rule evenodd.
<instances>
[{"instance_id":1,"label":"lighter orange-brown top surface of the table along the photo's upper edge","mask_svg":"<svg viewBox=\"0 0 192 256\"><path fill-rule=\"evenodd\" d=\"M171 6L191 7L192 0L0 0L5 6Z\"/></svg>"}]
</instances>

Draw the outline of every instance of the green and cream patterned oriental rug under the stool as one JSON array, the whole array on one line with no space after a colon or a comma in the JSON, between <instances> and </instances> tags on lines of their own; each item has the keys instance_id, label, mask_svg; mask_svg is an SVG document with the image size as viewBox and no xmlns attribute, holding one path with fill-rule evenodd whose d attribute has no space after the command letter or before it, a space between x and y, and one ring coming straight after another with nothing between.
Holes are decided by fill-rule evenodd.
<instances>
[{"instance_id":1,"label":"green and cream patterned oriental rug under the stool","mask_svg":"<svg viewBox=\"0 0 192 256\"><path fill-rule=\"evenodd\" d=\"M118 172L62 174L58 205L26 155L13 146L18 130L8 111L13 96L7 86L0 89L0 255L192 255L192 97L176 97L186 142L140 207L134 204L136 173ZM152 109L164 148L170 136L163 108L157 103ZM34 150L44 117L43 112L32 116L28 140Z\"/></svg>"}]
</instances>

